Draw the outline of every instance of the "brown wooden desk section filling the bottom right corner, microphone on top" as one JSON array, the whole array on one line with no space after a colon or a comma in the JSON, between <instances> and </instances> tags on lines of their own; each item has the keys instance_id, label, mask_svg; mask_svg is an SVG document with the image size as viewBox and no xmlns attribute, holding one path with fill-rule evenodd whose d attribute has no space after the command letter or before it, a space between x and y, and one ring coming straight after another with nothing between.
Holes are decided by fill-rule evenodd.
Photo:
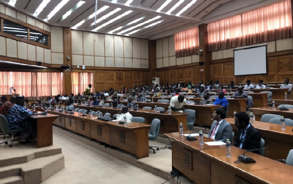
<instances>
[{"instance_id":1,"label":"brown wooden desk section filling the bottom right corner, microphone on top","mask_svg":"<svg viewBox=\"0 0 293 184\"><path fill-rule=\"evenodd\" d=\"M230 158L226 157L225 148L200 151L210 161L211 184L292 184L293 167L290 165L251 152L245 155L256 163L234 163L245 151L231 146Z\"/></svg>"}]
</instances>

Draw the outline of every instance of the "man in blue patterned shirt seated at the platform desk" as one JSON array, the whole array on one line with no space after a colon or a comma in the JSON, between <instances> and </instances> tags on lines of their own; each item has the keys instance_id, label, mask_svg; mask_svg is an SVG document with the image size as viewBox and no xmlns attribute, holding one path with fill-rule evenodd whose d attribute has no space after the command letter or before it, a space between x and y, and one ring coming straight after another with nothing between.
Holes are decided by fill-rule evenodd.
<instances>
[{"instance_id":1,"label":"man in blue patterned shirt seated at the platform desk","mask_svg":"<svg viewBox=\"0 0 293 184\"><path fill-rule=\"evenodd\" d=\"M37 132L37 125L35 123L31 123L27 121L27 118L33 115L33 112L24 109L24 96L16 97L16 104L8 109L7 115L5 116L7 119L9 129L19 129L26 128L25 131L21 133L20 139L26 140L30 134Z\"/></svg>"}]
</instances>

